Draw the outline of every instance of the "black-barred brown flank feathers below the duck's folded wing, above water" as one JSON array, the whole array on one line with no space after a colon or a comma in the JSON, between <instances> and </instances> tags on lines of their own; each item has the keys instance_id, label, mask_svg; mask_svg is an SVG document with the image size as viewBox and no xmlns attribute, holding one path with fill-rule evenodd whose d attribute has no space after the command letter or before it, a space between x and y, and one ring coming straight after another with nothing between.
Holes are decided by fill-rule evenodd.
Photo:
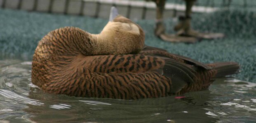
<instances>
[{"instance_id":1,"label":"black-barred brown flank feathers below the duck's folded wing, above water","mask_svg":"<svg viewBox=\"0 0 256 123\"><path fill-rule=\"evenodd\" d=\"M171 80L154 71L102 74L80 68L69 75L67 80L50 82L44 90L69 96L127 100L164 97L171 90Z\"/></svg>"}]
</instances>

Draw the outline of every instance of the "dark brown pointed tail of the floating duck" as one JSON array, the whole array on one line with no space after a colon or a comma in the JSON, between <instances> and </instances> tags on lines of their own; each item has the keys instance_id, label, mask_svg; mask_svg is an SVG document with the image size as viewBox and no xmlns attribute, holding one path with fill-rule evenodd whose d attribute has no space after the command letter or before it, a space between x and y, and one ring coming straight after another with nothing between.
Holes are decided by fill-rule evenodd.
<instances>
[{"instance_id":1,"label":"dark brown pointed tail of the floating duck","mask_svg":"<svg viewBox=\"0 0 256 123\"><path fill-rule=\"evenodd\" d=\"M207 64L207 66L217 71L216 75L214 76L215 78L238 73L240 68L240 65L236 62L217 62Z\"/></svg>"}]
</instances>

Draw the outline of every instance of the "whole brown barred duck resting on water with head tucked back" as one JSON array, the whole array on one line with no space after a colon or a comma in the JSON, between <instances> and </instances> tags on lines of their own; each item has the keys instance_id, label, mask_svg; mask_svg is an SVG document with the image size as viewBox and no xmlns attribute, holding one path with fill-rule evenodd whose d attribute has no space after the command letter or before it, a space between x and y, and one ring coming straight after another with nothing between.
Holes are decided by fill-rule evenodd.
<instances>
[{"instance_id":1,"label":"whole brown barred duck resting on water with head tucked back","mask_svg":"<svg viewBox=\"0 0 256 123\"><path fill-rule=\"evenodd\" d=\"M135 100L202 91L240 68L203 64L144 42L143 29L113 7L99 34L61 27L44 36L33 55L32 83L46 93Z\"/></svg>"}]
</instances>

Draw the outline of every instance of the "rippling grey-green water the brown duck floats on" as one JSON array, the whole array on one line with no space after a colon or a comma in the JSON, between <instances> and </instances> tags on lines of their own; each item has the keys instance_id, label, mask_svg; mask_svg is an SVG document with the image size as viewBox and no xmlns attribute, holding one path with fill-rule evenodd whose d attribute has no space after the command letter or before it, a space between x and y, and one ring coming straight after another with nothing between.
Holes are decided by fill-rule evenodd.
<instances>
[{"instance_id":1,"label":"rippling grey-green water the brown duck floats on","mask_svg":"<svg viewBox=\"0 0 256 123\"><path fill-rule=\"evenodd\" d=\"M48 94L31 84L31 62L0 60L0 123L256 122L256 83L220 79L184 96L117 100Z\"/></svg>"}]
</instances>

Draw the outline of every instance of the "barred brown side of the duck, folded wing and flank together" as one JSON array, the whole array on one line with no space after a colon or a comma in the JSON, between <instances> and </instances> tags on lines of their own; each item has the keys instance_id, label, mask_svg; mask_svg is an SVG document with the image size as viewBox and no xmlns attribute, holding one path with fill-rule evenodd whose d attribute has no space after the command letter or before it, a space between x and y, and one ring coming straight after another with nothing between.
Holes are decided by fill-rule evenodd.
<instances>
[{"instance_id":1,"label":"barred brown side of the duck, folded wing and flank together","mask_svg":"<svg viewBox=\"0 0 256 123\"><path fill-rule=\"evenodd\" d=\"M44 90L70 96L139 99L173 95L193 83L191 68L172 60L145 55L101 55L84 59L79 57L80 62L75 59L75 63L70 63L72 67L61 74L65 78L52 80Z\"/></svg>"}]
</instances>

